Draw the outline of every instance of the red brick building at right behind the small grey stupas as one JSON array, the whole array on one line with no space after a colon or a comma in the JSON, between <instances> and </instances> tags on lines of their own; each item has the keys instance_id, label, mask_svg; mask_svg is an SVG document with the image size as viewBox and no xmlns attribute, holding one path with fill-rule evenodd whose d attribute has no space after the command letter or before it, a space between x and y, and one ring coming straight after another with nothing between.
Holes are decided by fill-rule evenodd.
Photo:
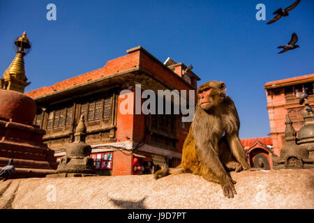
<instances>
[{"instance_id":1,"label":"red brick building at right behind the small grey stupas","mask_svg":"<svg viewBox=\"0 0 314 223\"><path fill-rule=\"evenodd\" d=\"M285 115L289 114L297 132L304 124L301 114L304 105L299 105L299 98L306 87L313 93L313 83L314 74L267 82L264 85L270 134L276 155L280 155L281 148L285 146ZM308 96L308 102L311 106L314 105L314 95Z\"/></svg>"}]
</instances>

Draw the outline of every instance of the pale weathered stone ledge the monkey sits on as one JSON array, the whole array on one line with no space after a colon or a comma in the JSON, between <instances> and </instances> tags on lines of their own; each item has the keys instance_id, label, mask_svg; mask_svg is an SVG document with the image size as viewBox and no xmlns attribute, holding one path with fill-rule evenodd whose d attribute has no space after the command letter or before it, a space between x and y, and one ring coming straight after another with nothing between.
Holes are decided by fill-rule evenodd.
<instances>
[{"instance_id":1,"label":"pale weathered stone ledge the monkey sits on","mask_svg":"<svg viewBox=\"0 0 314 223\"><path fill-rule=\"evenodd\" d=\"M0 208L314 208L313 169L244 171L232 178L234 199L194 174L7 180L0 182Z\"/></svg>"}]
</instances>

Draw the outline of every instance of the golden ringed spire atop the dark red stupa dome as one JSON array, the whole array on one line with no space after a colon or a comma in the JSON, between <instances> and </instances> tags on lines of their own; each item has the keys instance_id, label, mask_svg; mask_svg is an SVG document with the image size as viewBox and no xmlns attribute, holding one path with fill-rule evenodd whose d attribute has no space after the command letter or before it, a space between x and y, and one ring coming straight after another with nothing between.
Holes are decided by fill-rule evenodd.
<instances>
[{"instance_id":1,"label":"golden ringed spire atop the dark red stupa dome","mask_svg":"<svg viewBox=\"0 0 314 223\"><path fill-rule=\"evenodd\" d=\"M31 48L26 31L24 31L22 36L15 40L14 44L17 54L8 69L4 72L4 79L2 82L4 82L3 85L5 89L24 93L24 88L31 84L30 82L27 82L24 70L23 57Z\"/></svg>"}]
</instances>

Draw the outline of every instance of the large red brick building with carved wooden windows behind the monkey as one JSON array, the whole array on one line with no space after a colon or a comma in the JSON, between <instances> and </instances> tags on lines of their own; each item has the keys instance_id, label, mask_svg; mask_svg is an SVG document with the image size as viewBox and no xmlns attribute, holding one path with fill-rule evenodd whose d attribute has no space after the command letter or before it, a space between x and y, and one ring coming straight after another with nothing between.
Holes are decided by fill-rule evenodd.
<instances>
[{"instance_id":1,"label":"large red brick building with carved wooden windows behind the monkey","mask_svg":"<svg viewBox=\"0 0 314 223\"><path fill-rule=\"evenodd\" d=\"M162 63L142 47L127 52L107 61L103 68L26 93L38 107L33 122L46 131L43 142L55 156L65 155L84 114L86 141L93 148L91 157L98 174L136 174L141 166L149 168L163 160L170 166L180 162L190 123L182 123L180 114L121 114L119 107L124 96L135 97L135 84L141 84L142 91L156 93L195 90L200 78L183 63L172 59ZM121 97L119 93L125 89L130 93Z\"/></svg>"}]
</instances>

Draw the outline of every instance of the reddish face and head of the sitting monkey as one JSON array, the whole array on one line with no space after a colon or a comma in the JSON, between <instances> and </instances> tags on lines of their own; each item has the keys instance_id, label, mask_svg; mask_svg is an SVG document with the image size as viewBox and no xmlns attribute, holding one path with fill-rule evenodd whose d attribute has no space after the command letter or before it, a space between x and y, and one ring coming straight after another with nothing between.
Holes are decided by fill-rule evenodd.
<instances>
[{"instance_id":1,"label":"reddish face and head of the sitting monkey","mask_svg":"<svg viewBox=\"0 0 314 223\"><path fill-rule=\"evenodd\" d=\"M197 90L198 105L205 111L218 107L225 98L224 82L207 82L202 84Z\"/></svg>"}]
</instances>

